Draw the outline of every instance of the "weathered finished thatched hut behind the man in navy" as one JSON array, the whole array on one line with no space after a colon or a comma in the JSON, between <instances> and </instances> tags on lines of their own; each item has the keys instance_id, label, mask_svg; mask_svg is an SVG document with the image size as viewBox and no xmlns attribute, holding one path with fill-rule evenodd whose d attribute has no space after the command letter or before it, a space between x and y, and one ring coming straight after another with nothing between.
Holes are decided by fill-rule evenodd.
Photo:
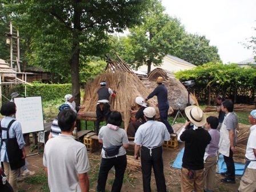
<instances>
[{"instance_id":1,"label":"weathered finished thatched hut behind the man in navy","mask_svg":"<svg viewBox=\"0 0 256 192\"><path fill-rule=\"evenodd\" d=\"M150 82L149 88L153 90L155 88L155 82L158 77L162 77L165 80L165 86L168 90L168 100L170 107L174 110L185 109L188 102L188 91L184 85L175 76L173 73L161 68L154 69L150 72L147 77L147 80ZM189 97L190 104L194 105L195 101L192 99L191 95Z\"/></svg>"}]
</instances>

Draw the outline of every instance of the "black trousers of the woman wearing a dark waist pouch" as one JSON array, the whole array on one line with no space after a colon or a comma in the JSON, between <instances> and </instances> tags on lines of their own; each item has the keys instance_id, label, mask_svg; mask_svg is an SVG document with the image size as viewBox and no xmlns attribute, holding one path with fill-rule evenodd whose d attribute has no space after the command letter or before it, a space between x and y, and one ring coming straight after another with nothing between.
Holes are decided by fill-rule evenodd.
<instances>
[{"instance_id":1,"label":"black trousers of the woman wearing a dark waist pouch","mask_svg":"<svg viewBox=\"0 0 256 192\"><path fill-rule=\"evenodd\" d=\"M126 155L114 158L102 158L99 168L97 191L105 191L107 175L111 167L115 167L115 181L112 186L112 192L121 191L123 185L123 175L127 166Z\"/></svg>"}]
</instances>

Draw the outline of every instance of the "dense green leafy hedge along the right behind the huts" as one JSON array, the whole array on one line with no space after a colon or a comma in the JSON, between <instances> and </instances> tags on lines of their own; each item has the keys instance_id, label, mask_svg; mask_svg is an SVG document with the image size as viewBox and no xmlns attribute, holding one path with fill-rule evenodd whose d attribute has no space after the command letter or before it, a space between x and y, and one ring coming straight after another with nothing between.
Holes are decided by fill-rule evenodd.
<instances>
[{"instance_id":1,"label":"dense green leafy hedge along the right behind the huts","mask_svg":"<svg viewBox=\"0 0 256 192\"><path fill-rule=\"evenodd\" d=\"M175 73L180 81L195 81L195 89L198 91L198 97L201 97L199 91L207 89L208 105L212 98L212 90L215 94L222 93L234 98L237 102L238 95L245 95L254 98L256 83L256 68L239 67L235 63L223 65L222 63L209 62L197 66L193 70L179 71ZM222 87L222 89L221 89Z\"/></svg>"}]
</instances>

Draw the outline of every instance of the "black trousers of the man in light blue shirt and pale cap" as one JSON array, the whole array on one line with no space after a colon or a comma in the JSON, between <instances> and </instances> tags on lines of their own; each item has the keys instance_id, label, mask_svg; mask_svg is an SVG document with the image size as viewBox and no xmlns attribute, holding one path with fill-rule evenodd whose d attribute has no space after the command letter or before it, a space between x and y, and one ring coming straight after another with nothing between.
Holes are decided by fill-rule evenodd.
<instances>
[{"instance_id":1,"label":"black trousers of the man in light blue shirt and pale cap","mask_svg":"<svg viewBox=\"0 0 256 192\"><path fill-rule=\"evenodd\" d=\"M147 147L143 147L141 149L141 168L142 168L142 178L143 178L143 191L150 192L150 180L151 180L151 169L153 166L154 174L155 174L155 182L157 182L157 191L165 192L165 175L163 174L163 148L157 147L151 150Z\"/></svg>"}]
</instances>

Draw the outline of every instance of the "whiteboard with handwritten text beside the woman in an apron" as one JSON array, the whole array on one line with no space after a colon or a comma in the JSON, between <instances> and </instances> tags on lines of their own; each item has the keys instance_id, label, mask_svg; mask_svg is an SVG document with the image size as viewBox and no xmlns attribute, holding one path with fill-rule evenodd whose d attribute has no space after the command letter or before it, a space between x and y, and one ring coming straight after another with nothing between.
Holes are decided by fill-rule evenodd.
<instances>
[{"instance_id":1,"label":"whiteboard with handwritten text beside the woman in an apron","mask_svg":"<svg viewBox=\"0 0 256 192\"><path fill-rule=\"evenodd\" d=\"M41 97L18 97L14 98L14 103L15 118L21 123L23 134L44 130Z\"/></svg>"}]
</instances>

